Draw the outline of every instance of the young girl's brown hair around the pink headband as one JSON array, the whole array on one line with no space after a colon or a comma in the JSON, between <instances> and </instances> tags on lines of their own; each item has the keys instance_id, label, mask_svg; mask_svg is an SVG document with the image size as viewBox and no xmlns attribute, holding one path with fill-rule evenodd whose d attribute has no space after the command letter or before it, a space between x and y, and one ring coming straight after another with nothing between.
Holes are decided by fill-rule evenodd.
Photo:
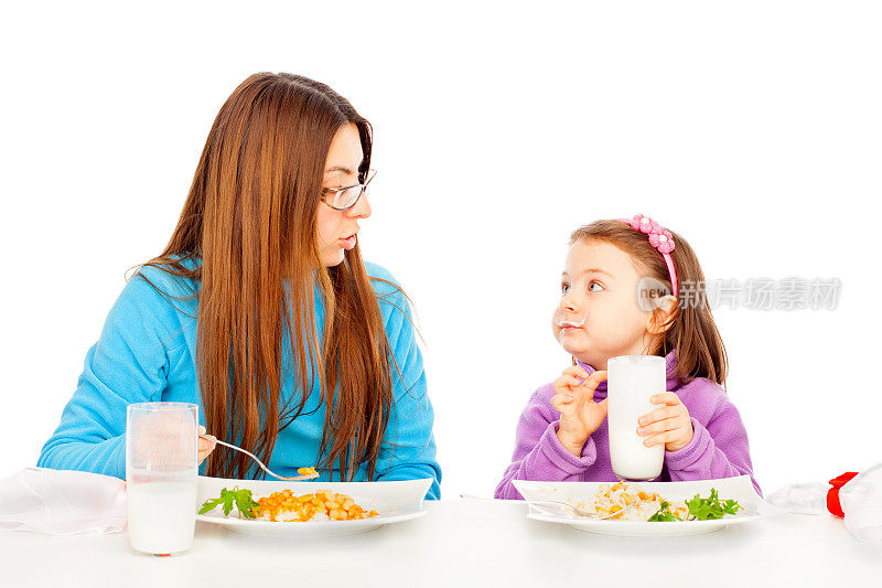
<instances>
[{"instance_id":1,"label":"young girl's brown hair around the pink headband","mask_svg":"<svg viewBox=\"0 0 882 588\"><path fill-rule=\"evenodd\" d=\"M701 285L704 272L698 257L689 244L679 234L674 233L675 248L670 253L677 270L678 306L677 310L664 323L667 331L658 345L650 350L655 355L667 355L677 350L677 379L685 384L696 377L706 377L721 386L725 386L728 357L720 331L713 322L710 304L703 288L689 289L689 297L684 296L684 284ZM582 239L609 243L631 256L637 270L644 276L660 280L673 291L670 276L665 258L649 244L648 236L617 220L595 221L590 225L577 228L570 235L570 245ZM634 292L637 296L637 292ZM654 311L656 320L664 320L662 309Z\"/></svg>"}]
</instances>

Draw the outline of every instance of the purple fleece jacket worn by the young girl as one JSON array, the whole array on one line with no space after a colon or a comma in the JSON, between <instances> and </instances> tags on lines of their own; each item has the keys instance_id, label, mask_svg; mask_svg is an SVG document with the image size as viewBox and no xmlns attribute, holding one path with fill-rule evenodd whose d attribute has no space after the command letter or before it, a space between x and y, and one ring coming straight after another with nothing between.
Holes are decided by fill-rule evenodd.
<instances>
[{"instance_id":1,"label":"purple fleece jacket worn by the young girl","mask_svg":"<svg viewBox=\"0 0 882 588\"><path fill-rule=\"evenodd\" d=\"M682 480L711 480L749 474L756 492L760 484L753 478L747 431L741 423L735 406L725 391L707 378L696 378L678 386L671 376L677 362L676 351L666 357L667 388L677 394L692 420L695 430L689 445L677 451L665 451L665 466L659 482ZM577 361L589 374L595 370ZM660 391L659 391L660 392ZM610 463L607 420L582 447L578 458L560 445L557 431L560 413L551 405L555 388L551 384L537 389L520 415L517 425L515 452L512 464L505 470L496 487L497 499L523 499L512 480L540 480L549 482L614 482L616 477ZM594 400L606 397L606 382L594 391ZM636 430L637 424L634 424Z\"/></svg>"}]
</instances>

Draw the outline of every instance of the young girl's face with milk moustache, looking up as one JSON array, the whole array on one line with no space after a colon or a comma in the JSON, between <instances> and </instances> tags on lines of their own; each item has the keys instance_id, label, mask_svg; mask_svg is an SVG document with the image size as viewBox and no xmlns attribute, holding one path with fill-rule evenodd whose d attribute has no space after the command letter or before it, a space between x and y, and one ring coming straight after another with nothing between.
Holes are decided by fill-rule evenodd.
<instances>
[{"instance_id":1,"label":"young girl's face with milk moustache, looking up","mask_svg":"<svg viewBox=\"0 0 882 588\"><path fill-rule=\"evenodd\" d=\"M552 321L563 349L596 370L605 370L606 361L616 355L649 353L652 313L638 306L641 277L619 247L593 239L573 243Z\"/></svg>"}]
</instances>

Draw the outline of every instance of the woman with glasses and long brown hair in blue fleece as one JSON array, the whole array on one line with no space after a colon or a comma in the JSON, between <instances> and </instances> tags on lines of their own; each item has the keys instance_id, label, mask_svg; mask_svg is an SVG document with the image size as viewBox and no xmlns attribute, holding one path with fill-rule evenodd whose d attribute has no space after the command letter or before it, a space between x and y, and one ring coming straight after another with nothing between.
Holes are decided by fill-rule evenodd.
<instances>
[{"instance_id":1,"label":"woman with glasses and long brown hair in blue fleece","mask_svg":"<svg viewBox=\"0 0 882 588\"><path fill-rule=\"evenodd\" d=\"M372 129L326 85L256 74L226 100L178 226L89 350L39 466L125 477L126 406L200 406L281 475L432 478L432 405L407 298L362 260ZM201 471L261 474L201 441Z\"/></svg>"}]
</instances>

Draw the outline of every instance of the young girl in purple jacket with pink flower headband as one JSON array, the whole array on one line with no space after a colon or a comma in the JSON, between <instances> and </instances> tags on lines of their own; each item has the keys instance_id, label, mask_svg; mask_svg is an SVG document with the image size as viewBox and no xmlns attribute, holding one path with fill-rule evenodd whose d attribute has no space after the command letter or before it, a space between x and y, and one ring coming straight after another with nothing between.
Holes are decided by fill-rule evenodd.
<instances>
[{"instance_id":1,"label":"young girl in purple jacket with pink flower headband","mask_svg":"<svg viewBox=\"0 0 882 588\"><path fill-rule=\"evenodd\" d=\"M707 298L698 289L695 300L677 303L680 284L703 280L689 244L642 215L596 221L572 234L552 329L573 365L533 394L496 498L521 498L512 480L616 480L604 381L606 362L617 355L660 355L667 363L667 391L652 398L658 408L634 423L645 446L665 446L657 481L753 480L747 434L723 388L725 349ZM638 292L653 285L674 293L647 308Z\"/></svg>"}]
</instances>

